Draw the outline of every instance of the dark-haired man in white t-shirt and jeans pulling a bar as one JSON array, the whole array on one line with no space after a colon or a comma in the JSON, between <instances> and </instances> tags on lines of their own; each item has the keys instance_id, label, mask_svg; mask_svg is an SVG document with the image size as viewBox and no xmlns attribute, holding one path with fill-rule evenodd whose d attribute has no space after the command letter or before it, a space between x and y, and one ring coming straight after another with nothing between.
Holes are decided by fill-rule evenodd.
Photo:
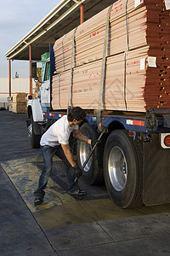
<instances>
[{"instance_id":1,"label":"dark-haired man in white t-shirt and jeans pulling a bar","mask_svg":"<svg viewBox=\"0 0 170 256\"><path fill-rule=\"evenodd\" d=\"M69 137L73 132L74 137L84 143L91 144L92 141L85 137L78 128L78 125L84 119L86 113L82 108L71 108L68 115L63 116L51 125L41 138L40 147L43 157L43 169L39 178L38 188L34 192L35 205L39 205L43 201L45 195L44 189L48 183L48 177L52 171L53 156L56 154L65 163L66 173L68 177L68 193L71 195L86 195L78 186L76 177L82 175L82 170L77 166L71 148L69 145Z\"/></svg>"}]
</instances>

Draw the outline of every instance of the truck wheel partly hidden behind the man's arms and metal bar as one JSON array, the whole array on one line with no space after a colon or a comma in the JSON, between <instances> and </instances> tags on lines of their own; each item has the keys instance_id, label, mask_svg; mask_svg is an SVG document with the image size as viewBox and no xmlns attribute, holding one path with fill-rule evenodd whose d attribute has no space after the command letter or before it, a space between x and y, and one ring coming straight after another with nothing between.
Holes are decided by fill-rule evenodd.
<instances>
[{"instance_id":1,"label":"truck wheel partly hidden behind the man's arms and metal bar","mask_svg":"<svg viewBox=\"0 0 170 256\"><path fill-rule=\"evenodd\" d=\"M80 128L82 134L90 139L97 139L98 133L92 125L83 124ZM91 146L88 143L82 143L77 140L77 163L82 167L88 157ZM94 154L88 160L88 164L83 170L82 177L89 185L100 184L104 182L103 164L102 164L102 147L100 145L94 150Z\"/></svg>"}]
</instances>

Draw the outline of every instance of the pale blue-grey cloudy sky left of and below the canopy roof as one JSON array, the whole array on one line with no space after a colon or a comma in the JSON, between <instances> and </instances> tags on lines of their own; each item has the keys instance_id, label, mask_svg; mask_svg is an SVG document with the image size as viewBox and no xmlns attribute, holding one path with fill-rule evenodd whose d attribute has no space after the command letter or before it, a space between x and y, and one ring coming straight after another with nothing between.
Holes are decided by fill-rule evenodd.
<instances>
[{"instance_id":1,"label":"pale blue-grey cloudy sky left of and below the canopy roof","mask_svg":"<svg viewBox=\"0 0 170 256\"><path fill-rule=\"evenodd\" d=\"M4 54L39 23L61 0L1 0L0 78L8 78L8 60ZM29 77L28 61L11 61L11 77Z\"/></svg>"}]
</instances>

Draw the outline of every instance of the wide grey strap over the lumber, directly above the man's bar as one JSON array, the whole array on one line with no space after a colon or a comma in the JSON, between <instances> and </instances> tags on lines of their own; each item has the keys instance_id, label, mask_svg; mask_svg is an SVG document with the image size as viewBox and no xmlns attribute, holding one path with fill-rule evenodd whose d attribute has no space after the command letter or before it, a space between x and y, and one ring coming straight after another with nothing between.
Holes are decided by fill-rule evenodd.
<instances>
[{"instance_id":1,"label":"wide grey strap over the lumber, directly above the man's bar","mask_svg":"<svg viewBox=\"0 0 170 256\"><path fill-rule=\"evenodd\" d=\"M107 12L106 24L105 24L105 41L104 41L104 51L103 51L103 59L102 59L102 67L101 67L101 75L100 75L100 84L99 84L99 101L98 101L98 111L97 111L97 125L99 131L101 131L101 105L102 105L102 97L105 86L105 68L106 68L106 52L107 52L107 42L108 42L108 34L110 29L110 15L113 4L111 4L110 8Z\"/></svg>"}]
</instances>

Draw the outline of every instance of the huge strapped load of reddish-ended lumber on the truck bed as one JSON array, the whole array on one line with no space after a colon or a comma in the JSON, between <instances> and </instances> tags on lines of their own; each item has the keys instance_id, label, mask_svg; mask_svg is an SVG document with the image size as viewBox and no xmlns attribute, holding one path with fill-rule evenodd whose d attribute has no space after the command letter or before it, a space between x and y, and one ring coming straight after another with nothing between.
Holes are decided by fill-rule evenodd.
<instances>
[{"instance_id":1,"label":"huge strapped load of reddish-ended lumber on the truck bed","mask_svg":"<svg viewBox=\"0 0 170 256\"><path fill-rule=\"evenodd\" d=\"M71 67L71 102L86 109L98 108L105 39L107 58L102 108L134 112L170 108L167 0L117 1L111 9L105 38L108 9L55 42L58 74L53 78L53 108L67 108Z\"/></svg>"}]
</instances>

